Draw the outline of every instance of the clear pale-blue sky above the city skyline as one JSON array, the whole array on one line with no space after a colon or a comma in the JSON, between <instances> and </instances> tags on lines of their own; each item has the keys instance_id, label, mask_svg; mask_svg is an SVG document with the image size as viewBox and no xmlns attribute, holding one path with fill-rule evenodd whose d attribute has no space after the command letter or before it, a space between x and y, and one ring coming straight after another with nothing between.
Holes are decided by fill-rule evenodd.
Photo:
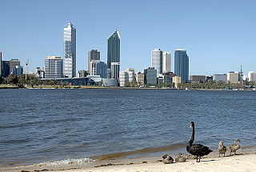
<instances>
[{"instance_id":1,"label":"clear pale-blue sky above the city skyline","mask_svg":"<svg viewBox=\"0 0 256 172\"><path fill-rule=\"evenodd\" d=\"M87 52L106 62L106 39L118 28L121 70L150 66L151 50L184 49L192 74L256 70L254 0L0 0L0 51L29 71L46 56L63 57L63 29L77 29L77 70L87 70Z\"/></svg>"}]
</instances>

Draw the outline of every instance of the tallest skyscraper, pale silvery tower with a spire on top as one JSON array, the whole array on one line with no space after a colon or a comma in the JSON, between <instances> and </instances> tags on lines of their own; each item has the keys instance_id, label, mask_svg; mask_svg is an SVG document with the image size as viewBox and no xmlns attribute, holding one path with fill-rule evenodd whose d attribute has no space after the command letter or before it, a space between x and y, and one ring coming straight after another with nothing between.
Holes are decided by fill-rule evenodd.
<instances>
[{"instance_id":1,"label":"tallest skyscraper, pale silvery tower with a spire on top","mask_svg":"<svg viewBox=\"0 0 256 172\"><path fill-rule=\"evenodd\" d=\"M76 29L71 22L64 27L64 75L76 76Z\"/></svg>"}]
</instances>

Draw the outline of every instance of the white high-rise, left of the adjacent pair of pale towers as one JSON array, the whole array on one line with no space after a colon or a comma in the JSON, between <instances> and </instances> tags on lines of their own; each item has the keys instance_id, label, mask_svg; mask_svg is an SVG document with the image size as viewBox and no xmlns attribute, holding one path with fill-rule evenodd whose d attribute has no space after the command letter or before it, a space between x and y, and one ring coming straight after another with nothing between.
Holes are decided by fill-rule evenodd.
<instances>
[{"instance_id":1,"label":"white high-rise, left of the adjacent pair of pale towers","mask_svg":"<svg viewBox=\"0 0 256 172\"><path fill-rule=\"evenodd\" d=\"M151 51L151 67L157 70L157 76L162 74L162 50L154 49Z\"/></svg>"}]
</instances>

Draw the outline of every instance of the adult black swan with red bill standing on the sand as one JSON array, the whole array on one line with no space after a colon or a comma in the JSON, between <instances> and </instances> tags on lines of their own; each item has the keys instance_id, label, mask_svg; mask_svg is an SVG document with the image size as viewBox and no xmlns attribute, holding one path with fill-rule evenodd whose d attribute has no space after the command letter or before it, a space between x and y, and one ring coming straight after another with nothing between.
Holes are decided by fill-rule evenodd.
<instances>
[{"instance_id":1,"label":"adult black swan with red bill standing on the sand","mask_svg":"<svg viewBox=\"0 0 256 172\"><path fill-rule=\"evenodd\" d=\"M200 144L193 144L194 142L194 122L190 122L190 127L192 127L192 136L190 142L186 145L186 151L190 154L197 156L197 162L200 162L200 158L204 155L210 154L213 150L209 147Z\"/></svg>"}]
</instances>

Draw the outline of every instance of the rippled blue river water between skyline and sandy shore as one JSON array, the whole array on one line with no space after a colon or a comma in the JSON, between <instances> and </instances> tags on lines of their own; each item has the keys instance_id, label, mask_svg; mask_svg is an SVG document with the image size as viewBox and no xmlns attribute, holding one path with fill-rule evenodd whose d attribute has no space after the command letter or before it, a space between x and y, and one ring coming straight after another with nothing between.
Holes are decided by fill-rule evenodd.
<instances>
[{"instance_id":1,"label":"rippled blue river water between skyline and sandy shore","mask_svg":"<svg viewBox=\"0 0 256 172\"><path fill-rule=\"evenodd\" d=\"M0 166L185 150L190 121L211 149L235 138L255 146L255 99L256 91L0 90Z\"/></svg>"}]
</instances>

